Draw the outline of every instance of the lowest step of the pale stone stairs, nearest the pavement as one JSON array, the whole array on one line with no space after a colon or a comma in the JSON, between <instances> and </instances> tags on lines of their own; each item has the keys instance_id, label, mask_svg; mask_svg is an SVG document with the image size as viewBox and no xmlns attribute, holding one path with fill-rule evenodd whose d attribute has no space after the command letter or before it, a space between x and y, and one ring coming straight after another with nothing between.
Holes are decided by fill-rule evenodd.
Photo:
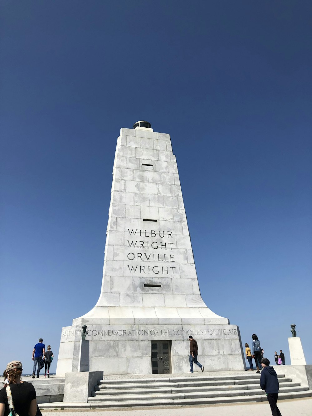
<instances>
[{"instance_id":1,"label":"lowest step of the pale stone stairs, nearest the pavement","mask_svg":"<svg viewBox=\"0 0 312 416\"><path fill-rule=\"evenodd\" d=\"M302 397L312 397L312 390L295 391L280 393L278 396L280 400L299 399ZM95 398L92 398L95 399ZM94 401L92 400L92 408L114 408L114 407L143 407L143 406L194 406L203 404L227 404L237 402L251 402L251 401L267 401L265 394L253 396L226 396L226 397L205 397L194 398L191 396L187 399L155 399L155 400L128 400L128 401ZM45 406L48 408L50 406ZM71 406L73 407L73 406ZM77 404L77 408L79 404Z\"/></svg>"}]
</instances>

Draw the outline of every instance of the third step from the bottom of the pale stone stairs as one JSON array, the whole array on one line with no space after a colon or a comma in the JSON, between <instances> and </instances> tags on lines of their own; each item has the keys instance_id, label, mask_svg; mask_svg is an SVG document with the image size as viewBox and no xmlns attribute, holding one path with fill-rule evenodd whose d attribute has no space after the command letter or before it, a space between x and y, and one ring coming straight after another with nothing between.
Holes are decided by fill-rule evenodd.
<instances>
[{"instance_id":1,"label":"third step from the bottom of the pale stone stairs","mask_svg":"<svg viewBox=\"0 0 312 416\"><path fill-rule=\"evenodd\" d=\"M300 383L295 383L293 381L283 383L281 387L297 387L300 386ZM102 386L96 386L95 391L92 392L92 396L114 396L121 394L156 394L156 393L180 393L180 392L192 392L198 391L197 386L191 387L166 387L166 388L149 388L149 389L100 389ZM241 384L236 385L218 385L218 386L203 386L201 391L220 391L222 389L235 389L235 390L248 390L248 389L258 389L259 384Z\"/></svg>"}]
</instances>

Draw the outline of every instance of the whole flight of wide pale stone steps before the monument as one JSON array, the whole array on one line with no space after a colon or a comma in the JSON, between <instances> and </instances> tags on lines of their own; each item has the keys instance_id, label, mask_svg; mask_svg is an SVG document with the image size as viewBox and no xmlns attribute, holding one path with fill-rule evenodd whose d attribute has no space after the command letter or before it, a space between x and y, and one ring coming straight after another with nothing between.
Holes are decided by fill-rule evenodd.
<instances>
[{"instance_id":1,"label":"whole flight of wide pale stone steps before the monument","mask_svg":"<svg viewBox=\"0 0 312 416\"><path fill-rule=\"evenodd\" d=\"M233 402L266 401L258 374L225 376L174 376L135 379L105 379L95 386L88 403L92 407L183 406ZM280 399L311 397L300 382L278 375Z\"/></svg>"}]
</instances>

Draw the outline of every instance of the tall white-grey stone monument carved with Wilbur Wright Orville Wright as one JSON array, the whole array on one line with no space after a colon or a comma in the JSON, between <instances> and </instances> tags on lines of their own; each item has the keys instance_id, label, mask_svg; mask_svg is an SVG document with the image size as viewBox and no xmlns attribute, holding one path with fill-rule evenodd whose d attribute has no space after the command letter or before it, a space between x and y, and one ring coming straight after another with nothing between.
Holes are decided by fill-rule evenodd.
<instances>
[{"instance_id":1,"label":"tall white-grey stone monument carved with Wilbur Wright Orville Wright","mask_svg":"<svg viewBox=\"0 0 312 416\"><path fill-rule=\"evenodd\" d=\"M245 369L238 327L201 298L170 136L145 121L117 139L101 293L62 329L57 376L78 371L82 324L104 375L186 373L189 335L208 371Z\"/></svg>"}]
</instances>

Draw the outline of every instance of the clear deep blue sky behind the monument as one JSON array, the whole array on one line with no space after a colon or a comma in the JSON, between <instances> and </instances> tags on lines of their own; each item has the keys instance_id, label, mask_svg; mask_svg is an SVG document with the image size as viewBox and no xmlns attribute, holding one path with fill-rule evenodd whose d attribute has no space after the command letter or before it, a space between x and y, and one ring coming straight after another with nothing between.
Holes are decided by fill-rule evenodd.
<instances>
[{"instance_id":1,"label":"clear deep blue sky behind the monument","mask_svg":"<svg viewBox=\"0 0 312 416\"><path fill-rule=\"evenodd\" d=\"M311 2L0 7L0 369L97 302L138 120L171 134L203 300L273 361L297 324L312 364Z\"/></svg>"}]
</instances>

